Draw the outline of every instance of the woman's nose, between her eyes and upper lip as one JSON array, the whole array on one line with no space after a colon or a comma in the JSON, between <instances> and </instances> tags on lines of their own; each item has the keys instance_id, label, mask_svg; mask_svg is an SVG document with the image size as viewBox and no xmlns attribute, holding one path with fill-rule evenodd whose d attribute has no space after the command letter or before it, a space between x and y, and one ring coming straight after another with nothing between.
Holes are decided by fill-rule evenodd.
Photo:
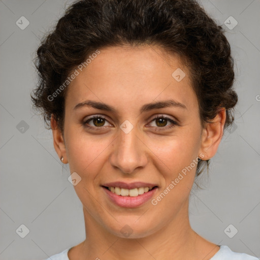
<instances>
[{"instance_id":1,"label":"woman's nose, between her eyes and upper lip","mask_svg":"<svg viewBox=\"0 0 260 260\"><path fill-rule=\"evenodd\" d=\"M137 168L141 169L147 165L147 149L138 137L136 127L128 134L119 129L119 136L114 140L110 163L123 173L134 173Z\"/></svg>"}]
</instances>

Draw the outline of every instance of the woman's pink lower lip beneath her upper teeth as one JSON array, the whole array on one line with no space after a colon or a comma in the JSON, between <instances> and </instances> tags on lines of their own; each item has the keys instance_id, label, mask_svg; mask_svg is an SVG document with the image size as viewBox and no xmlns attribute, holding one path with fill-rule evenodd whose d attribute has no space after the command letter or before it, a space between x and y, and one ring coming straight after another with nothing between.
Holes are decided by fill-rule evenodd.
<instances>
[{"instance_id":1,"label":"woman's pink lower lip beneath her upper teeth","mask_svg":"<svg viewBox=\"0 0 260 260\"><path fill-rule=\"evenodd\" d=\"M111 192L109 189L105 187L102 188L107 193L109 199L116 205L124 208L137 208L149 201L153 197L153 194L155 193L158 187L155 187L143 193L142 195L138 195L136 197L117 195L116 193Z\"/></svg>"}]
</instances>

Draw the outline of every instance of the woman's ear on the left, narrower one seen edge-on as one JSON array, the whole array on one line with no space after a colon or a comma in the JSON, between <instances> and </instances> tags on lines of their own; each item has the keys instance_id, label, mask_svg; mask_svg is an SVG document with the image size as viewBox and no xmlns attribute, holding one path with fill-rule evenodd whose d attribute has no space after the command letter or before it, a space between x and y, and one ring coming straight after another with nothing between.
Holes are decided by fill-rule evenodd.
<instances>
[{"instance_id":1,"label":"woman's ear on the left, narrower one seen edge-on","mask_svg":"<svg viewBox=\"0 0 260 260\"><path fill-rule=\"evenodd\" d=\"M61 129L57 125L57 121L54 119L53 114L51 115L51 129L53 135L53 145L59 158L63 157L63 163L68 163L65 142L62 136Z\"/></svg>"}]
</instances>

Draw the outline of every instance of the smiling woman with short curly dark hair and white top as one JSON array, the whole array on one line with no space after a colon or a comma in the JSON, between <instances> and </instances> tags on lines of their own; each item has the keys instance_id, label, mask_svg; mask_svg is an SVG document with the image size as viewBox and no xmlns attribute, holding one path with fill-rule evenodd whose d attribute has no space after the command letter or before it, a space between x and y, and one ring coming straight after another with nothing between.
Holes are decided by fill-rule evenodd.
<instances>
[{"instance_id":1,"label":"smiling woman with short curly dark hair and white top","mask_svg":"<svg viewBox=\"0 0 260 260\"><path fill-rule=\"evenodd\" d=\"M69 164L86 239L51 259L257 259L191 229L188 203L237 103L223 31L189 0L76 1L32 94Z\"/></svg>"}]
</instances>

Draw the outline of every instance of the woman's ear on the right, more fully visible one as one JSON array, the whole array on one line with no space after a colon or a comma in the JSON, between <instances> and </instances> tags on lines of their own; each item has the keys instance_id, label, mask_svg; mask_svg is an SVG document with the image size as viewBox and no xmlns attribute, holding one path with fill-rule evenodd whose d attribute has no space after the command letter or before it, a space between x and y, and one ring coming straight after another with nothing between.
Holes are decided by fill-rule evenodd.
<instances>
[{"instance_id":1,"label":"woman's ear on the right, more fully visible one","mask_svg":"<svg viewBox=\"0 0 260 260\"><path fill-rule=\"evenodd\" d=\"M203 160L212 158L217 152L218 145L223 136L224 123L226 118L225 108L221 108L219 113L203 128L201 148L199 154L204 154Z\"/></svg>"}]
</instances>

